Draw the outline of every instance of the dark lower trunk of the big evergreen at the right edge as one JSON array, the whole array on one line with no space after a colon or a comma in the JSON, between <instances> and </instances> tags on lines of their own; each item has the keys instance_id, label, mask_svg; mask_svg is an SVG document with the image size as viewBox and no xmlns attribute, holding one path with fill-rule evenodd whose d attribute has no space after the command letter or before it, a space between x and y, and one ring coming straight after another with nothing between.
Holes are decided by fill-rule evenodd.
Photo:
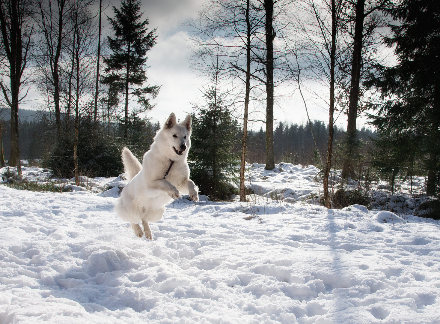
<instances>
[{"instance_id":1,"label":"dark lower trunk of the big evergreen at the right edge","mask_svg":"<svg viewBox=\"0 0 440 324\"><path fill-rule=\"evenodd\" d=\"M431 145L429 147L428 180L426 181L426 193L436 195L436 180L439 164L439 119L440 119L440 84L434 88L434 111L432 114Z\"/></svg>"}]
</instances>

